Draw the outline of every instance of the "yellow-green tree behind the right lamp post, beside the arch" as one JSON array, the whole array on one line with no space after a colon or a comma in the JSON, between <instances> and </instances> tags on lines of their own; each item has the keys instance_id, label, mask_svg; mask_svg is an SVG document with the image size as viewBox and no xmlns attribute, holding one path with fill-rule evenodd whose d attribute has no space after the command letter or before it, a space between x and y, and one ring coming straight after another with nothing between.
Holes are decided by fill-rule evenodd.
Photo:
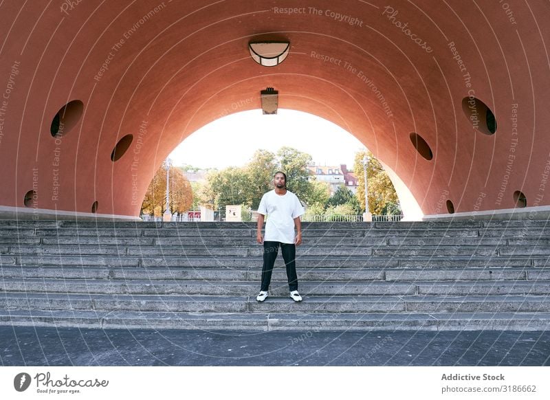
<instances>
[{"instance_id":1,"label":"yellow-green tree behind the right lamp post, beside the arch","mask_svg":"<svg viewBox=\"0 0 550 400\"><path fill-rule=\"evenodd\" d=\"M363 157L368 155L371 157L369 166L366 170L366 175L369 184L369 211L373 214L384 214L384 212L395 212L395 205L399 207L399 199L397 192L391 183L391 179L382 167L382 164L375 159L370 151L360 151L355 153L355 163L353 164L353 172L358 178L358 190L355 196L357 197L362 210L365 203L365 185L364 185L364 165ZM392 203L393 208L388 205ZM400 209L399 209L400 210ZM400 211L399 211L400 212Z\"/></svg>"}]
</instances>

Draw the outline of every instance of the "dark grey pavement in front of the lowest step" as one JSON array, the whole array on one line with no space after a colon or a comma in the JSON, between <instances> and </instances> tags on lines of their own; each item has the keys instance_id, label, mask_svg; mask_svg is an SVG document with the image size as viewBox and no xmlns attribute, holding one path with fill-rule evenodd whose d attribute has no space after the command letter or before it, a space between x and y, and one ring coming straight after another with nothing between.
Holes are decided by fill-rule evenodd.
<instances>
[{"instance_id":1,"label":"dark grey pavement in front of the lowest step","mask_svg":"<svg viewBox=\"0 0 550 400\"><path fill-rule=\"evenodd\" d=\"M549 366L550 332L207 332L0 326L3 366Z\"/></svg>"}]
</instances>

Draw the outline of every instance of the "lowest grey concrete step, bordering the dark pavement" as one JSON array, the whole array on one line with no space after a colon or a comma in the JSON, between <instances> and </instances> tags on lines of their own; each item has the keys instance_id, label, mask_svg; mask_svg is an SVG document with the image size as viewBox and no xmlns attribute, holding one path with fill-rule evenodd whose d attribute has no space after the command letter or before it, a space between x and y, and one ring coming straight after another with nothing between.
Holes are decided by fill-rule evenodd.
<instances>
[{"instance_id":1,"label":"lowest grey concrete step, bordering the dark pavement","mask_svg":"<svg viewBox=\"0 0 550 400\"><path fill-rule=\"evenodd\" d=\"M181 313L1 310L0 324L233 331L548 331L550 313Z\"/></svg>"}]
</instances>

